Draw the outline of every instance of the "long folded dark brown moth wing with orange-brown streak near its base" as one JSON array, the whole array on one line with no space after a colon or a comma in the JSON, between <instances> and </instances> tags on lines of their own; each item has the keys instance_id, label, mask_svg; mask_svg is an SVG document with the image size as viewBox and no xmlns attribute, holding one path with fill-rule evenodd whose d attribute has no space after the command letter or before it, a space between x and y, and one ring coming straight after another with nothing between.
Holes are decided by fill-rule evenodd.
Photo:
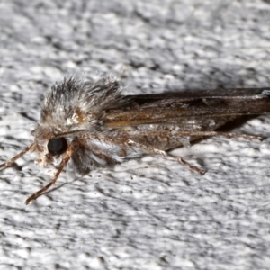
<instances>
[{"instance_id":1,"label":"long folded dark brown moth wing with orange-brown streak near its base","mask_svg":"<svg viewBox=\"0 0 270 270\"><path fill-rule=\"evenodd\" d=\"M105 112L103 124L112 128L173 124L181 130L215 130L241 115L270 112L269 88L198 92L126 96L126 103Z\"/></svg>"}]
</instances>

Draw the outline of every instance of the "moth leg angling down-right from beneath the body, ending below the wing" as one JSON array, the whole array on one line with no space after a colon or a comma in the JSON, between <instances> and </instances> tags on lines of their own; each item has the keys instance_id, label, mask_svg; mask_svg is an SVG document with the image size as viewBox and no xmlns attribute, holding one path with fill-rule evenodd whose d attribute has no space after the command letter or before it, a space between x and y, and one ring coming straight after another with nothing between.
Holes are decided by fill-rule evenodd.
<instances>
[{"instance_id":1,"label":"moth leg angling down-right from beneath the body, ending below the wing","mask_svg":"<svg viewBox=\"0 0 270 270\"><path fill-rule=\"evenodd\" d=\"M159 150L157 148L152 148L152 147L148 147L146 145L140 144L132 139L128 139L127 144L129 146L135 146L141 149L144 149L146 151L148 151L149 153L153 153L153 154L158 154L158 155L162 155L164 157L173 157L175 160L177 160L178 162L184 164L184 166L189 167L191 170L193 170L194 172L200 174L200 175L204 175L205 172L202 171L200 168L198 168L197 166L193 166L190 163L188 163L187 161L185 161L182 157L177 157L174 155L170 155L168 154L166 151L163 150Z\"/></svg>"}]
</instances>

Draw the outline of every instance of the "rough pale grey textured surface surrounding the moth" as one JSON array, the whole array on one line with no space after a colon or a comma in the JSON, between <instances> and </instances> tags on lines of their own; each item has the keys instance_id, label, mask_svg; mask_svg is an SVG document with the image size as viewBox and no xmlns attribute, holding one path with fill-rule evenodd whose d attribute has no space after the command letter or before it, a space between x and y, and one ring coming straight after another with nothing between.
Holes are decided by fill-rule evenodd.
<instances>
[{"instance_id":1,"label":"rough pale grey textured surface surrounding the moth","mask_svg":"<svg viewBox=\"0 0 270 270\"><path fill-rule=\"evenodd\" d=\"M270 85L270 1L0 1L0 158L31 143L63 76L120 76L126 94ZM0 269L269 269L270 117L164 157L49 176L26 155L0 173Z\"/></svg>"}]
</instances>

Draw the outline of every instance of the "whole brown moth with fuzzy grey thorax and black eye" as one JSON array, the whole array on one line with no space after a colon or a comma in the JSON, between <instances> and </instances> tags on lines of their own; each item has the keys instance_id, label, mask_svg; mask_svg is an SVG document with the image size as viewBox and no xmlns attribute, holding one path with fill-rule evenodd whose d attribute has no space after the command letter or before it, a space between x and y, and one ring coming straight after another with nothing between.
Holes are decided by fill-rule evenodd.
<instances>
[{"instance_id":1,"label":"whole brown moth with fuzzy grey thorax and black eye","mask_svg":"<svg viewBox=\"0 0 270 270\"><path fill-rule=\"evenodd\" d=\"M0 165L4 169L25 153L37 152L37 164L57 168L49 184L26 204L55 184L67 164L85 175L96 167L158 154L203 175L200 168L167 150L216 135L254 139L215 130L241 115L270 112L270 88L139 95L123 95L123 89L113 76L95 81L69 77L51 86L41 103L40 121L31 132L33 142Z\"/></svg>"}]
</instances>

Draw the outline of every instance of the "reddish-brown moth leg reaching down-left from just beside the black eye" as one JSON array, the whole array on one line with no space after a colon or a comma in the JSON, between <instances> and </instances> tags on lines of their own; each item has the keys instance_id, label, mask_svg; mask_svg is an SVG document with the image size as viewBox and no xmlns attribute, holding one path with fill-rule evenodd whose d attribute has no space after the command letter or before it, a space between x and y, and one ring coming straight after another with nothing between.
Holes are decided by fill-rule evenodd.
<instances>
[{"instance_id":1,"label":"reddish-brown moth leg reaching down-left from just beside the black eye","mask_svg":"<svg viewBox=\"0 0 270 270\"><path fill-rule=\"evenodd\" d=\"M74 141L73 143L71 143L66 151L65 156L62 158L62 161L60 163L60 166L58 167L58 171L57 173L54 175L53 179L49 182L49 184L45 185L44 187L42 187L40 189L40 191L33 193L26 201L25 204L29 204L29 202L37 199L42 193L44 193L46 190L49 189L49 187L52 184L55 184L56 181L58 180L58 176L60 175L60 173L63 171L64 167L67 165L68 160L70 159L70 157L72 156L72 153L74 152L74 149L76 148L76 141Z\"/></svg>"}]
</instances>

